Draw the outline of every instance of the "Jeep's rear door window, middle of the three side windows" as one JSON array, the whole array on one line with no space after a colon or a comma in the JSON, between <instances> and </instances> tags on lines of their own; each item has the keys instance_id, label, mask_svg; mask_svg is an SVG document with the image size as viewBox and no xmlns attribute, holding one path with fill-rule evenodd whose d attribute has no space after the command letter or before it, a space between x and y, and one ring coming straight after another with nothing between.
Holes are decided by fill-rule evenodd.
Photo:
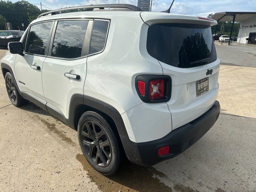
<instances>
[{"instance_id":1,"label":"Jeep's rear door window, middle of the three side windows","mask_svg":"<svg viewBox=\"0 0 256 192\"><path fill-rule=\"evenodd\" d=\"M88 20L58 21L51 56L78 58L82 56Z\"/></svg>"}]
</instances>

